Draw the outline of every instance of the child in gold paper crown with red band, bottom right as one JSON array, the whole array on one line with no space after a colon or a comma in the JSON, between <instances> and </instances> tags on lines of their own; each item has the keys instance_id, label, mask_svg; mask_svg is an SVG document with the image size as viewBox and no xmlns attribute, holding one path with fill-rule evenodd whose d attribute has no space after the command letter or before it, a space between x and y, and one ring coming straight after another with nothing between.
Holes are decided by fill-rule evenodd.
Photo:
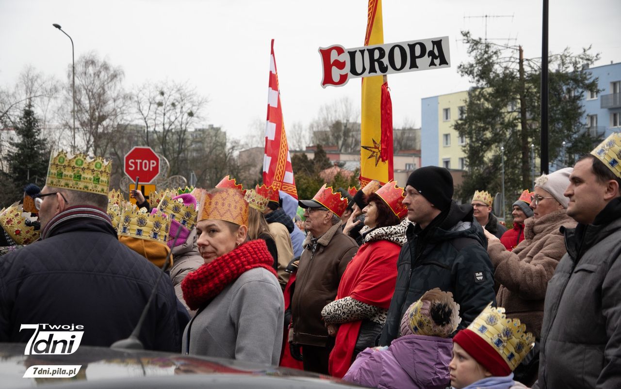
<instances>
[{"instance_id":1,"label":"child in gold paper crown with red band, bottom right","mask_svg":"<svg viewBox=\"0 0 621 389\"><path fill-rule=\"evenodd\" d=\"M513 370L535 346L519 319L509 319L504 308L487 307L453 338L450 369L453 389L525 388Z\"/></svg>"}]
</instances>

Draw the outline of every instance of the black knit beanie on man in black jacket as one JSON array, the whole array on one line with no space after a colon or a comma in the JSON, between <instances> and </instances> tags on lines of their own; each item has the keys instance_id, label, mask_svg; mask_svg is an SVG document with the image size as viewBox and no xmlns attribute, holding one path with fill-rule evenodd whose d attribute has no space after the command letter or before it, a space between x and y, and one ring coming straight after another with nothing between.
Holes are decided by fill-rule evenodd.
<instances>
[{"instance_id":1,"label":"black knit beanie on man in black jacket","mask_svg":"<svg viewBox=\"0 0 621 389\"><path fill-rule=\"evenodd\" d=\"M443 211L451 205L453 198L453 177L445 168L425 166L410 174L407 185L418 190L428 202Z\"/></svg>"}]
</instances>

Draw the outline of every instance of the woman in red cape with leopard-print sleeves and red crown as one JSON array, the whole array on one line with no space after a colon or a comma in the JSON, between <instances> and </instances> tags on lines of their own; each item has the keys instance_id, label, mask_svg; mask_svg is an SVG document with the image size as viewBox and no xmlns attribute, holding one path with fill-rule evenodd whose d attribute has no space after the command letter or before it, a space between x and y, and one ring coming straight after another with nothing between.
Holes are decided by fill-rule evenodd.
<instances>
[{"instance_id":1,"label":"woman in red cape with leopard-print sleeves and red crown","mask_svg":"<svg viewBox=\"0 0 621 389\"><path fill-rule=\"evenodd\" d=\"M397 279L397 258L406 243L409 221L401 220L407 209L401 204L403 189L389 182L369 195L365 243L347 265L338 285L337 299L322 310L328 334L335 336L329 371L342 378L358 352L373 347L386 321Z\"/></svg>"}]
</instances>

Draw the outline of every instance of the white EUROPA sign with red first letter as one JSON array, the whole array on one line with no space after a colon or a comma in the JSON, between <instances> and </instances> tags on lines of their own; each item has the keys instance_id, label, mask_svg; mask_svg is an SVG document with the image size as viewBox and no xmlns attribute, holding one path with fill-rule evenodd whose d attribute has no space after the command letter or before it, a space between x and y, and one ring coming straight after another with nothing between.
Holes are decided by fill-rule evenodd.
<instances>
[{"instance_id":1,"label":"white EUROPA sign with red first letter","mask_svg":"<svg viewBox=\"0 0 621 389\"><path fill-rule=\"evenodd\" d=\"M448 37L344 48L320 47L324 78L321 86L343 86L350 78L450 68Z\"/></svg>"}]
</instances>

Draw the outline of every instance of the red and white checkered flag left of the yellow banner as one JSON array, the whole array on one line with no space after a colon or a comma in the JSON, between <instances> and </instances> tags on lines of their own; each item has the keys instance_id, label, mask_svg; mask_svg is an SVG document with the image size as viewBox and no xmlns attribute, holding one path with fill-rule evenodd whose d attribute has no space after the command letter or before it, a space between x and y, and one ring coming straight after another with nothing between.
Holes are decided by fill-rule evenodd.
<instances>
[{"instance_id":1,"label":"red and white checkered flag left of the yellow banner","mask_svg":"<svg viewBox=\"0 0 621 389\"><path fill-rule=\"evenodd\" d=\"M287 135L284 133L283 109L280 105L278 74L274 59L274 40L271 41L270 87L268 89L268 118L265 127L263 155L263 184L282 190L297 200Z\"/></svg>"}]
</instances>

